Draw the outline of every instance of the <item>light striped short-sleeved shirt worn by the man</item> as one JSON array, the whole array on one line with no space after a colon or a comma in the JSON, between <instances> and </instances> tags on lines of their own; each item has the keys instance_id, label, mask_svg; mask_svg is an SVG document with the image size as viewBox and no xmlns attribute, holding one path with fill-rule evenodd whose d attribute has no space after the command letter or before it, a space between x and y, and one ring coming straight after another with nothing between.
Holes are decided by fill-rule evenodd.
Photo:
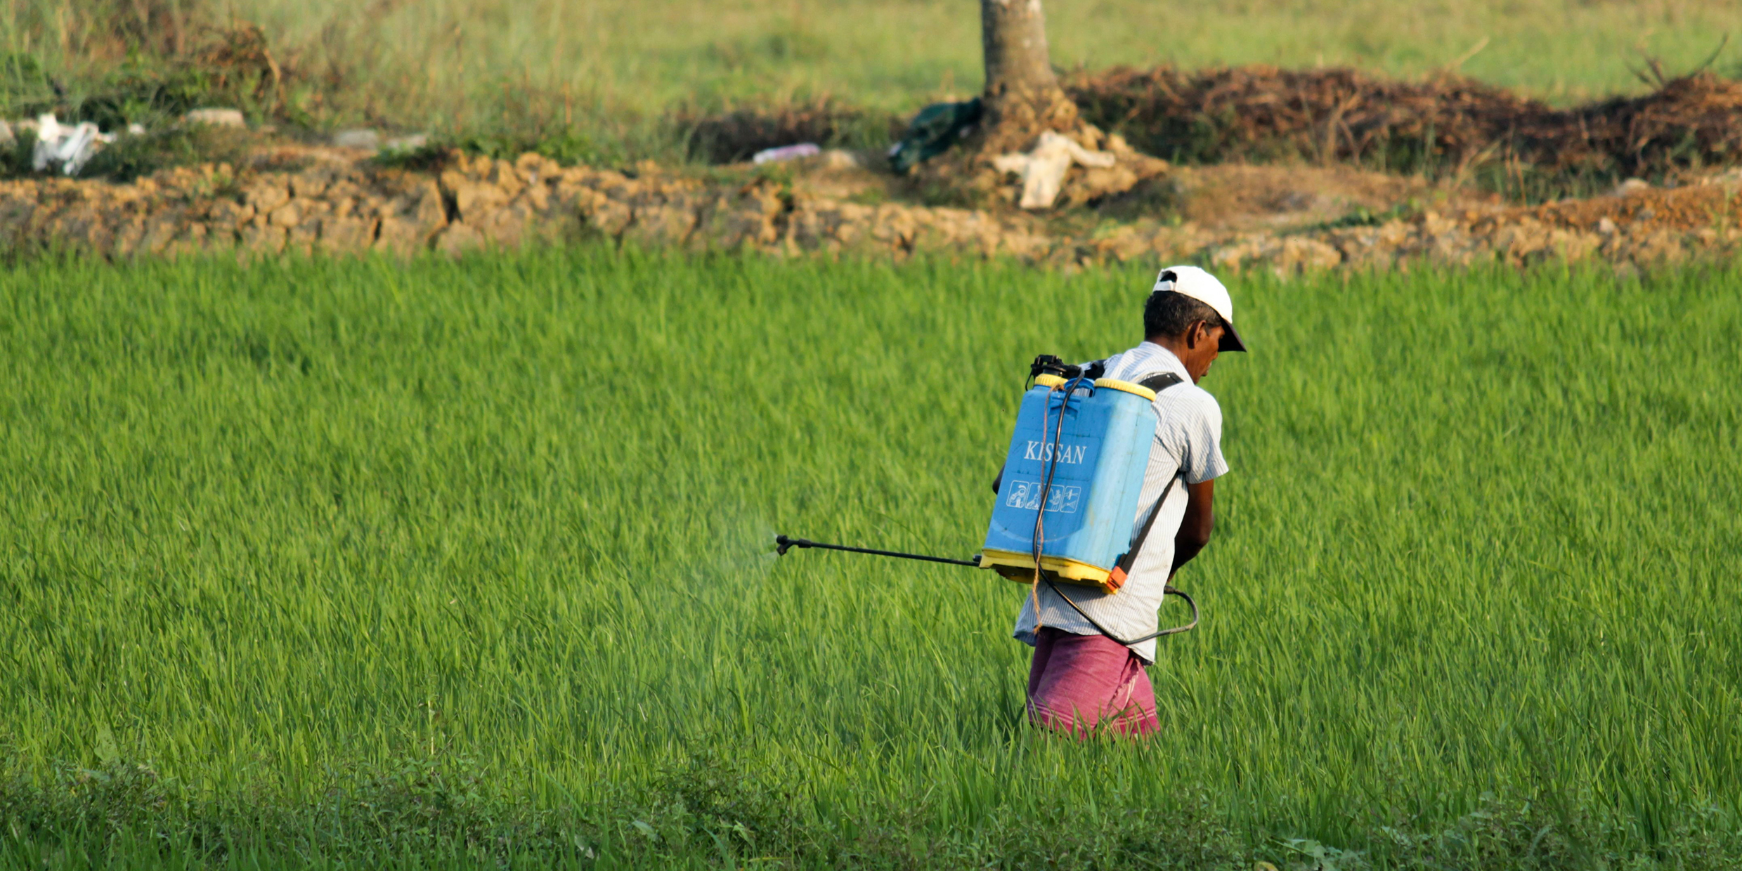
<instances>
[{"instance_id":1,"label":"light striped short-sleeved shirt worn by the man","mask_svg":"<svg viewBox=\"0 0 1742 871\"><path fill-rule=\"evenodd\" d=\"M1174 535L1186 516L1185 484L1200 484L1228 472L1228 462L1221 456L1221 406L1216 404L1216 397L1193 385L1179 357L1160 345L1144 341L1108 357L1104 362L1104 378L1118 378L1120 381L1138 381L1160 373L1174 373L1181 378L1181 383L1155 394L1155 444L1150 446L1150 465L1138 496L1138 516L1131 526L1132 540L1150 512L1157 510L1157 500L1167 490L1167 483L1176 477L1178 483L1167 491L1167 503L1160 505L1162 516L1155 519L1150 537L1143 542L1143 550L1138 552L1138 559L1131 566L1131 577L1118 592L1108 596L1094 587L1071 584L1061 584L1059 589L1110 632L1120 638L1146 636L1157 629L1155 611L1162 606L1162 589L1174 566ZM1045 584L1040 584L1036 592L1038 596L1023 598L1023 613L1016 618L1019 641L1035 643L1036 598L1042 625L1080 636L1099 634L1089 620L1084 620ZM1155 662L1153 638L1131 645L1131 650L1144 662Z\"/></svg>"}]
</instances>

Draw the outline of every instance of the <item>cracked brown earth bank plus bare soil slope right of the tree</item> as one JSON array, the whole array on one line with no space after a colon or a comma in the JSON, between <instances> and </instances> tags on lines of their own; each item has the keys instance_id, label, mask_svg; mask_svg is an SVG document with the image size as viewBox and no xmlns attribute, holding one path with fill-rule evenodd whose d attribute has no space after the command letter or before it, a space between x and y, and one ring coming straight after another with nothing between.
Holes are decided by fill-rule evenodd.
<instances>
[{"instance_id":1,"label":"cracked brown earth bank plus bare soil slope right of the tree","mask_svg":"<svg viewBox=\"0 0 1742 871\"><path fill-rule=\"evenodd\" d=\"M1111 141L1101 138L1101 145ZM125 185L3 181L0 251L462 254L603 237L775 256L934 251L1064 267L1197 261L1279 273L1545 260L1639 270L1742 251L1737 171L1690 174L1674 188L1632 179L1599 197L1526 207L1474 186L1336 164L1122 160L1138 171L1077 167L1066 178L1066 206L1035 214L998 197L972 209L927 202L927 190L878 169L873 153L824 152L789 164L706 171L453 153L415 169L378 165L359 150L282 143L240 167L183 167ZM1124 181L1106 188L1096 172ZM1131 186L1125 176L1139 181ZM1007 179L1005 193L1014 195L1014 185Z\"/></svg>"}]
</instances>

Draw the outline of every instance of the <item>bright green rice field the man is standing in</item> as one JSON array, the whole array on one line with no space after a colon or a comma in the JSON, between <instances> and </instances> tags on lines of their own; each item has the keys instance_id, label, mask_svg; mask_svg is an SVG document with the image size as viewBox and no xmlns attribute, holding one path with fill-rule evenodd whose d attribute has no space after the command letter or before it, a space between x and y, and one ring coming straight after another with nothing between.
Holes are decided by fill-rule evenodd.
<instances>
[{"instance_id":1,"label":"bright green rice field the man is standing in","mask_svg":"<svg viewBox=\"0 0 1742 871\"><path fill-rule=\"evenodd\" d=\"M1233 280L1164 739L965 556L1143 268L0 275L0 861L1733 868L1735 270Z\"/></svg>"}]
</instances>

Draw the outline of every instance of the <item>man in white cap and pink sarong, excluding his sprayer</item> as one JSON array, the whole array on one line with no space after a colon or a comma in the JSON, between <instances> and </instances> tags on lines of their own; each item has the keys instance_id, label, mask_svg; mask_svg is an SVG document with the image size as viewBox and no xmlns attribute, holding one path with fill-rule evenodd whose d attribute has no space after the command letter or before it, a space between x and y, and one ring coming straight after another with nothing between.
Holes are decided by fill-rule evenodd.
<instances>
[{"instance_id":1,"label":"man in white cap and pink sarong, excluding his sprayer","mask_svg":"<svg viewBox=\"0 0 1742 871\"><path fill-rule=\"evenodd\" d=\"M1216 477L1228 470L1221 456L1221 406L1197 387L1219 352L1246 350L1233 331L1228 289L1197 267L1162 270L1143 305L1143 334L1144 341L1136 348L1085 369L1101 369L1101 378L1122 381L1162 373L1179 378L1179 383L1155 394L1155 442L1150 446L1132 540L1138 540L1151 512L1160 514L1118 592L1103 594L1066 584L1056 592L1038 584L1033 596L1024 596L1023 613L1016 618L1016 638L1035 648L1028 671L1030 721L1077 735L1097 726L1134 735L1160 728L1155 690L1144 672L1155 662L1155 639L1127 646L1094 624L1124 639L1155 632L1162 591L1174 570L1209 544ZM1070 596L1082 613L1059 592Z\"/></svg>"}]
</instances>

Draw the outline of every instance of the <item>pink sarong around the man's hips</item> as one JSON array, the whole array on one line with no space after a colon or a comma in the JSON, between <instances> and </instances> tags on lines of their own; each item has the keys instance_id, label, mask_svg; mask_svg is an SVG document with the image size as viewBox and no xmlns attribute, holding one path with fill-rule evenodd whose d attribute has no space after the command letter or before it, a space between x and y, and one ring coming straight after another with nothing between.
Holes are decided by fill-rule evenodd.
<instances>
[{"instance_id":1,"label":"pink sarong around the man's hips","mask_svg":"<svg viewBox=\"0 0 1742 871\"><path fill-rule=\"evenodd\" d=\"M1089 737L1097 726L1115 735L1150 735L1162 728L1143 658L1111 638L1050 625L1035 636L1028 721L1077 737Z\"/></svg>"}]
</instances>

